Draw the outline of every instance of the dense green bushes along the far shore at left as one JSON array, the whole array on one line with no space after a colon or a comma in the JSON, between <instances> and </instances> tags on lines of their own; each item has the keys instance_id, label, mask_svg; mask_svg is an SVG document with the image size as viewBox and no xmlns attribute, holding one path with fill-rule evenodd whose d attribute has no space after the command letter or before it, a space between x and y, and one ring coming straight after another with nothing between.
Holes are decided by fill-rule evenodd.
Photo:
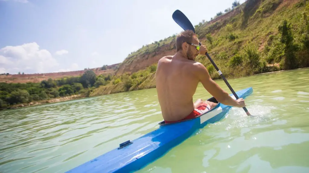
<instances>
[{"instance_id":1,"label":"dense green bushes along the far shore at left","mask_svg":"<svg viewBox=\"0 0 309 173\"><path fill-rule=\"evenodd\" d=\"M82 76L53 80L40 83L0 83L0 109L14 107L17 104L29 104L35 101L49 100L70 95L89 96L95 88L107 85L111 76L96 76L91 70Z\"/></svg>"}]
</instances>

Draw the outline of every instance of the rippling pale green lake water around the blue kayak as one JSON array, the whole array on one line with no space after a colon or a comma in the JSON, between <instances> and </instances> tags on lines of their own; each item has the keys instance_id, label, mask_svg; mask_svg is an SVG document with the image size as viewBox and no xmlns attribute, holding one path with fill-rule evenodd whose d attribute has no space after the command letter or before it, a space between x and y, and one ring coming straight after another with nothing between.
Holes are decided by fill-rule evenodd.
<instances>
[{"instance_id":1,"label":"rippling pale green lake water around the blue kayak","mask_svg":"<svg viewBox=\"0 0 309 173\"><path fill-rule=\"evenodd\" d=\"M255 116L232 108L138 172L309 172L309 69L228 81L253 87L245 101ZM199 85L193 99L209 97ZM65 172L161 120L155 89L1 111L0 172Z\"/></svg>"}]
</instances>

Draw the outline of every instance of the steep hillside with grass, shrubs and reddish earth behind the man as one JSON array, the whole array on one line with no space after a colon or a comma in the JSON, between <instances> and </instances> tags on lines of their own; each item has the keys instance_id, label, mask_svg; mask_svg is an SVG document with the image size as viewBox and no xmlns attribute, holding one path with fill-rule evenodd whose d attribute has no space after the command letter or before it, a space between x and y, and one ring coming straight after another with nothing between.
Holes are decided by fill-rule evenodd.
<instances>
[{"instance_id":1,"label":"steep hillside with grass, shrubs and reddish earth behind the man","mask_svg":"<svg viewBox=\"0 0 309 173\"><path fill-rule=\"evenodd\" d=\"M200 22L195 30L226 78L309 66L309 4L305 0L248 0ZM155 87L156 63L176 52L175 38L172 35L129 54L112 82L91 95ZM213 79L220 78L206 56L196 60Z\"/></svg>"}]
</instances>

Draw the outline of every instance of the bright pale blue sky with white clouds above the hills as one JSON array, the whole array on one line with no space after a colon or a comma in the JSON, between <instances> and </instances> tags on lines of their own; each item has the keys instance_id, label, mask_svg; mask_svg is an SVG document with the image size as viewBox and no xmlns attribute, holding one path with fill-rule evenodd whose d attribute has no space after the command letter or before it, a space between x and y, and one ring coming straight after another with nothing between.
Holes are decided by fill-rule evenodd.
<instances>
[{"instance_id":1,"label":"bright pale blue sky with white clouds above the hills","mask_svg":"<svg viewBox=\"0 0 309 173\"><path fill-rule=\"evenodd\" d=\"M245 0L240 0L243 3ZM234 0L0 0L0 74L83 70L122 62L143 45L210 21Z\"/></svg>"}]
</instances>

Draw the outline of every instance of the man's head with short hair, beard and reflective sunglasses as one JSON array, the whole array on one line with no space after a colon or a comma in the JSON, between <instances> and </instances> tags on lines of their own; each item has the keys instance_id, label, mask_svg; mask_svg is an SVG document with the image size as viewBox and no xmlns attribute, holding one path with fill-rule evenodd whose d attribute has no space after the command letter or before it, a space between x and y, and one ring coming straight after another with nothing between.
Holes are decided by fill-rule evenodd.
<instances>
[{"instance_id":1,"label":"man's head with short hair, beard and reflective sunglasses","mask_svg":"<svg viewBox=\"0 0 309 173\"><path fill-rule=\"evenodd\" d=\"M176 38L176 50L182 51L189 60L195 60L195 57L200 53L197 47L199 40L196 34L192 30L185 30L177 35Z\"/></svg>"}]
</instances>

